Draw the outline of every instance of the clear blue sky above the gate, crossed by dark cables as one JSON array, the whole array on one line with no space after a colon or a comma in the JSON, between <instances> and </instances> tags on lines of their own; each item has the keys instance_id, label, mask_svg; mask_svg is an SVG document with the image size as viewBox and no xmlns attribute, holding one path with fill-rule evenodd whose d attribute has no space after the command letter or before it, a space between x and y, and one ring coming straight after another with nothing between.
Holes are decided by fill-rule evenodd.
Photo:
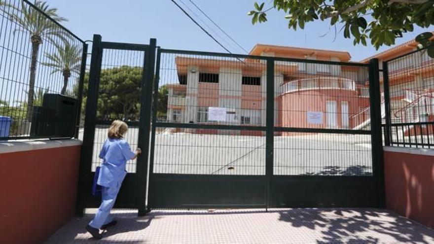
<instances>
[{"instance_id":1,"label":"clear blue sky above the gate, crossed by dark cables","mask_svg":"<svg viewBox=\"0 0 434 244\"><path fill-rule=\"evenodd\" d=\"M184 7L187 4L196 14L200 14L189 0L176 0ZM254 0L194 0L220 27L246 50L254 44L288 45L318 49L343 50L350 52L353 61L374 55L378 51L371 46L354 46L353 41L338 33L334 39L334 29L329 30L326 22L309 23L304 30L289 30L283 12L270 11L268 22L253 26L247 12L253 9ZM203 33L185 16L171 0L48 0L50 6L57 7L59 13L68 18L64 25L82 39L92 39L93 34L100 34L103 40L117 42L148 43L149 38L157 38L157 45L170 49L225 52L209 36ZM207 22L224 37L221 43L233 53L244 53L230 42L217 28ZM205 16L199 15L206 21ZM430 30L434 30L433 27ZM397 44L414 38L424 30L415 28L415 32L397 39ZM382 47L386 50L388 47Z\"/></svg>"}]
</instances>

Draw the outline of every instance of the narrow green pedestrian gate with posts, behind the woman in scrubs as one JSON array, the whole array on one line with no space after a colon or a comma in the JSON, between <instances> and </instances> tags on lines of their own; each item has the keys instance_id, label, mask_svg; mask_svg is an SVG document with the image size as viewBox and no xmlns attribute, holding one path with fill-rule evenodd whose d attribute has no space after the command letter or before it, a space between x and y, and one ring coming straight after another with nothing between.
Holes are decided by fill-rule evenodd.
<instances>
[{"instance_id":1,"label":"narrow green pedestrian gate with posts, behind the woman in scrubs","mask_svg":"<svg viewBox=\"0 0 434 244\"><path fill-rule=\"evenodd\" d=\"M79 192L76 212L83 213L84 208L95 208L100 199L91 195L91 186L96 167L101 163L98 153L107 138L109 125L114 119L126 120L129 130L126 139L130 145L140 147L143 154L134 161L127 162L127 172L122 188L116 199L116 208L139 209L139 214L146 212L146 176L147 155L149 153L150 114L152 80L155 69L156 40L150 39L149 45L104 42L100 35L94 35L92 60L88 79L85 124L79 174ZM137 89L122 90L116 84L105 84L111 75L119 82L137 82ZM102 86L105 84L105 86ZM131 93L140 93L140 100L126 106ZM109 96L124 96L119 104L106 104ZM123 103L123 104L122 104ZM100 104L100 105L98 105ZM123 115L112 114L123 105ZM133 108L131 108L133 106ZM139 117L131 116L128 109L136 109ZM121 113L122 114L122 113ZM147 135L147 136L146 136Z\"/></svg>"}]
</instances>

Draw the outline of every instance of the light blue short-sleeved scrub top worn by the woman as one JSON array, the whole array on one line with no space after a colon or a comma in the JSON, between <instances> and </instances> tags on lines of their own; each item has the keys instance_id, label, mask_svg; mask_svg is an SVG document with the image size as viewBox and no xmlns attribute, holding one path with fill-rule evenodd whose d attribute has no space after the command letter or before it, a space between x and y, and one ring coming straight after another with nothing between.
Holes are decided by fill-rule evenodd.
<instances>
[{"instance_id":1,"label":"light blue short-sleeved scrub top worn by the woman","mask_svg":"<svg viewBox=\"0 0 434 244\"><path fill-rule=\"evenodd\" d=\"M97 183L105 187L120 187L127 174L125 171L127 161L135 155L124 139L107 139L99 156L103 164Z\"/></svg>"}]
</instances>

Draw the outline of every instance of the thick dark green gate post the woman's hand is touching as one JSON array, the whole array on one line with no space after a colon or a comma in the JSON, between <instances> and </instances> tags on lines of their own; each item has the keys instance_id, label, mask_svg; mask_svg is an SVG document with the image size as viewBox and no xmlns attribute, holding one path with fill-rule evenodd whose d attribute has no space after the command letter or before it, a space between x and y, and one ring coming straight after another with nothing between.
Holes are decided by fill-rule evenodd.
<instances>
[{"instance_id":1,"label":"thick dark green gate post the woman's hand is touching","mask_svg":"<svg viewBox=\"0 0 434 244\"><path fill-rule=\"evenodd\" d=\"M152 84L155 69L155 49L157 40L151 38L145 52L145 64L143 66L142 89L140 95L140 122L138 146L142 148L142 155L137 159L137 208L138 215L144 216L146 209L146 190L149 159L149 139L152 107Z\"/></svg>"}]
</instances>

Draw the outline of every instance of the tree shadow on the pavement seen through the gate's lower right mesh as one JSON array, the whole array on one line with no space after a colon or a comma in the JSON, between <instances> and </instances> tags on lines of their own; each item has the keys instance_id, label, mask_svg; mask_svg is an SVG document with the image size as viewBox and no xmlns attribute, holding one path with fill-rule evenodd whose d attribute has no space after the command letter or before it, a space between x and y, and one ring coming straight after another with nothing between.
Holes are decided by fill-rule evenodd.
<instances>
[{"instance_id":1,"label":"tree shadow on the pavement seen through the gate's lower right mesh","mask_svg":"<svg viewBox=\"0 0 434 244\"><path fill-rule=\"evenodd\" d=\"M372 168L364 165L354 165L345 168L340 166L325 166L320 172L308 172L303 175L371 176Z\"/></svg>"}]
</instances>

